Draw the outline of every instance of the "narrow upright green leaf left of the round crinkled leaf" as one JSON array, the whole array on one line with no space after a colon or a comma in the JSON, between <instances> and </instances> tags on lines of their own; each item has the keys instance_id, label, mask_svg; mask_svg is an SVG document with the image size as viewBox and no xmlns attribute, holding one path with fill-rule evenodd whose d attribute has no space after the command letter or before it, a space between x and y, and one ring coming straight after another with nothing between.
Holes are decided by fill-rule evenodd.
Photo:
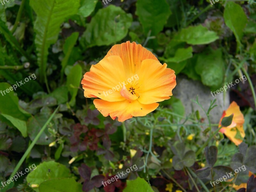
<instances>
[{"instance_id":1,"label":"narrow upright green leaf left of the round crinkled leaf","mask_svg":"<svg viewBox=\"0 0 256 192\"><path fill-rule=\"evenodd\" d=\"M65 54L65 57L64 59L61 61L61 82L62 82L62 79L63 79L63 74L64 74L64 69L65 67L67 66L68 64L68 59L69 59L69 56L71 54L71 51L73 49L73 47L75 46L76 44L76 41L77 41L77 38L79 36L79 33L78 32L75 32L75 33L72 33L71 36L69 36L66 41L65 41L65 44L63 45L63 52Z\"/></svg>"}]
</instances>

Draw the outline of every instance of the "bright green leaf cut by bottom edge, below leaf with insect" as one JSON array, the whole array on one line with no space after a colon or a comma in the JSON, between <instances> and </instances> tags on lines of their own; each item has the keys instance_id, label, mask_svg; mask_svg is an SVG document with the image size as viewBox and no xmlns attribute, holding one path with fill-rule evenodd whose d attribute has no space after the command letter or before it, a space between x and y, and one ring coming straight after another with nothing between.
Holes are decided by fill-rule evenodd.
<instances>
[{"instance_id":1,"label":"bright green leaf cut by bottom edge, below leaf with insect","mask_svg":"<svg viewBox=\"0 0 256 192\"><path fill-rule=\"evenodd\" d=\"M44 181L39 186L40 192L83 192L82 185L74 179L51 179Z\"/></svg>"}]
</instances>

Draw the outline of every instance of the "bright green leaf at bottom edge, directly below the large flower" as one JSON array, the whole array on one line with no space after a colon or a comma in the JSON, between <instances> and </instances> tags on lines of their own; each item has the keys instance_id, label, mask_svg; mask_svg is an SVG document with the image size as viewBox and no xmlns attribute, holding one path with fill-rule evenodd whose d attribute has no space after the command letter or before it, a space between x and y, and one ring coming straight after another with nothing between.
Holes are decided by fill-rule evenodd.
<instances>
[{"instance_id":1,"label":"bright green leaf at bottom edge, directly below the large flower","mask_svg":"<svg viewBox=\"0 0 256 192\"><path fill-rule=\"evenodd\" d=\"M148 182L144 179L137 177L135 180L127 180L127 186L123 190L124 192L154 192L153 189L148 185Z\"/></svg>"}]
</instances>

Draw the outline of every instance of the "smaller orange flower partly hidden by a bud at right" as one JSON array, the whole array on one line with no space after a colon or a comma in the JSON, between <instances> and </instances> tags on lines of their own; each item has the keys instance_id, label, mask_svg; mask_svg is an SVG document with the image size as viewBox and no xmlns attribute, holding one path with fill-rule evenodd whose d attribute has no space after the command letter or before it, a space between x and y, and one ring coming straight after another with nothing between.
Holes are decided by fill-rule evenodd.
<instances>
[{"instance_id":1,"label":"smaller orange flower partly hidden by a bud at right","mask_svg":"<svg viewBox=\"0 0 256 192\"><path fill-rule=\"evenodd\" d=\"M239 145L243 142L245 133L244 133L244 115L240 111L239 106L236 104L235 101L233 101L228 109L223 112L222 117L220 118L220 122L223 117L228 117L230 115L234 114L233 120L231 125L228 127L223 127L220 129L220 132L224 133L228 139L230 139L233 143L236 145ZM219 123L220 127L220 123Z\"/></svg>"}]
</instances>

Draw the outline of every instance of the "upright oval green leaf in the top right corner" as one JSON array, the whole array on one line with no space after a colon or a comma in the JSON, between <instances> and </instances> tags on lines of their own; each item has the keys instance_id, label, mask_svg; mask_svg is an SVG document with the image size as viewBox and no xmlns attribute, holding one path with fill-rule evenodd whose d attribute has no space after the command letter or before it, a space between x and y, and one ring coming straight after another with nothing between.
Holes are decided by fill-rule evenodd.
<instances>
[{"instance_id":1,"label":"upright oval green leaf in the top right corner","mask_svg":"<svg viewBox=\"0 0 256 192\"><path fill-rule=\"evenodd\" d=\"M247 23L247 17L242 7L234 2L227 2L223 17L226 25L236 36L237 43L241 44L240 40L243 36L243 29Z\"/></svg>"}]
</instances>

